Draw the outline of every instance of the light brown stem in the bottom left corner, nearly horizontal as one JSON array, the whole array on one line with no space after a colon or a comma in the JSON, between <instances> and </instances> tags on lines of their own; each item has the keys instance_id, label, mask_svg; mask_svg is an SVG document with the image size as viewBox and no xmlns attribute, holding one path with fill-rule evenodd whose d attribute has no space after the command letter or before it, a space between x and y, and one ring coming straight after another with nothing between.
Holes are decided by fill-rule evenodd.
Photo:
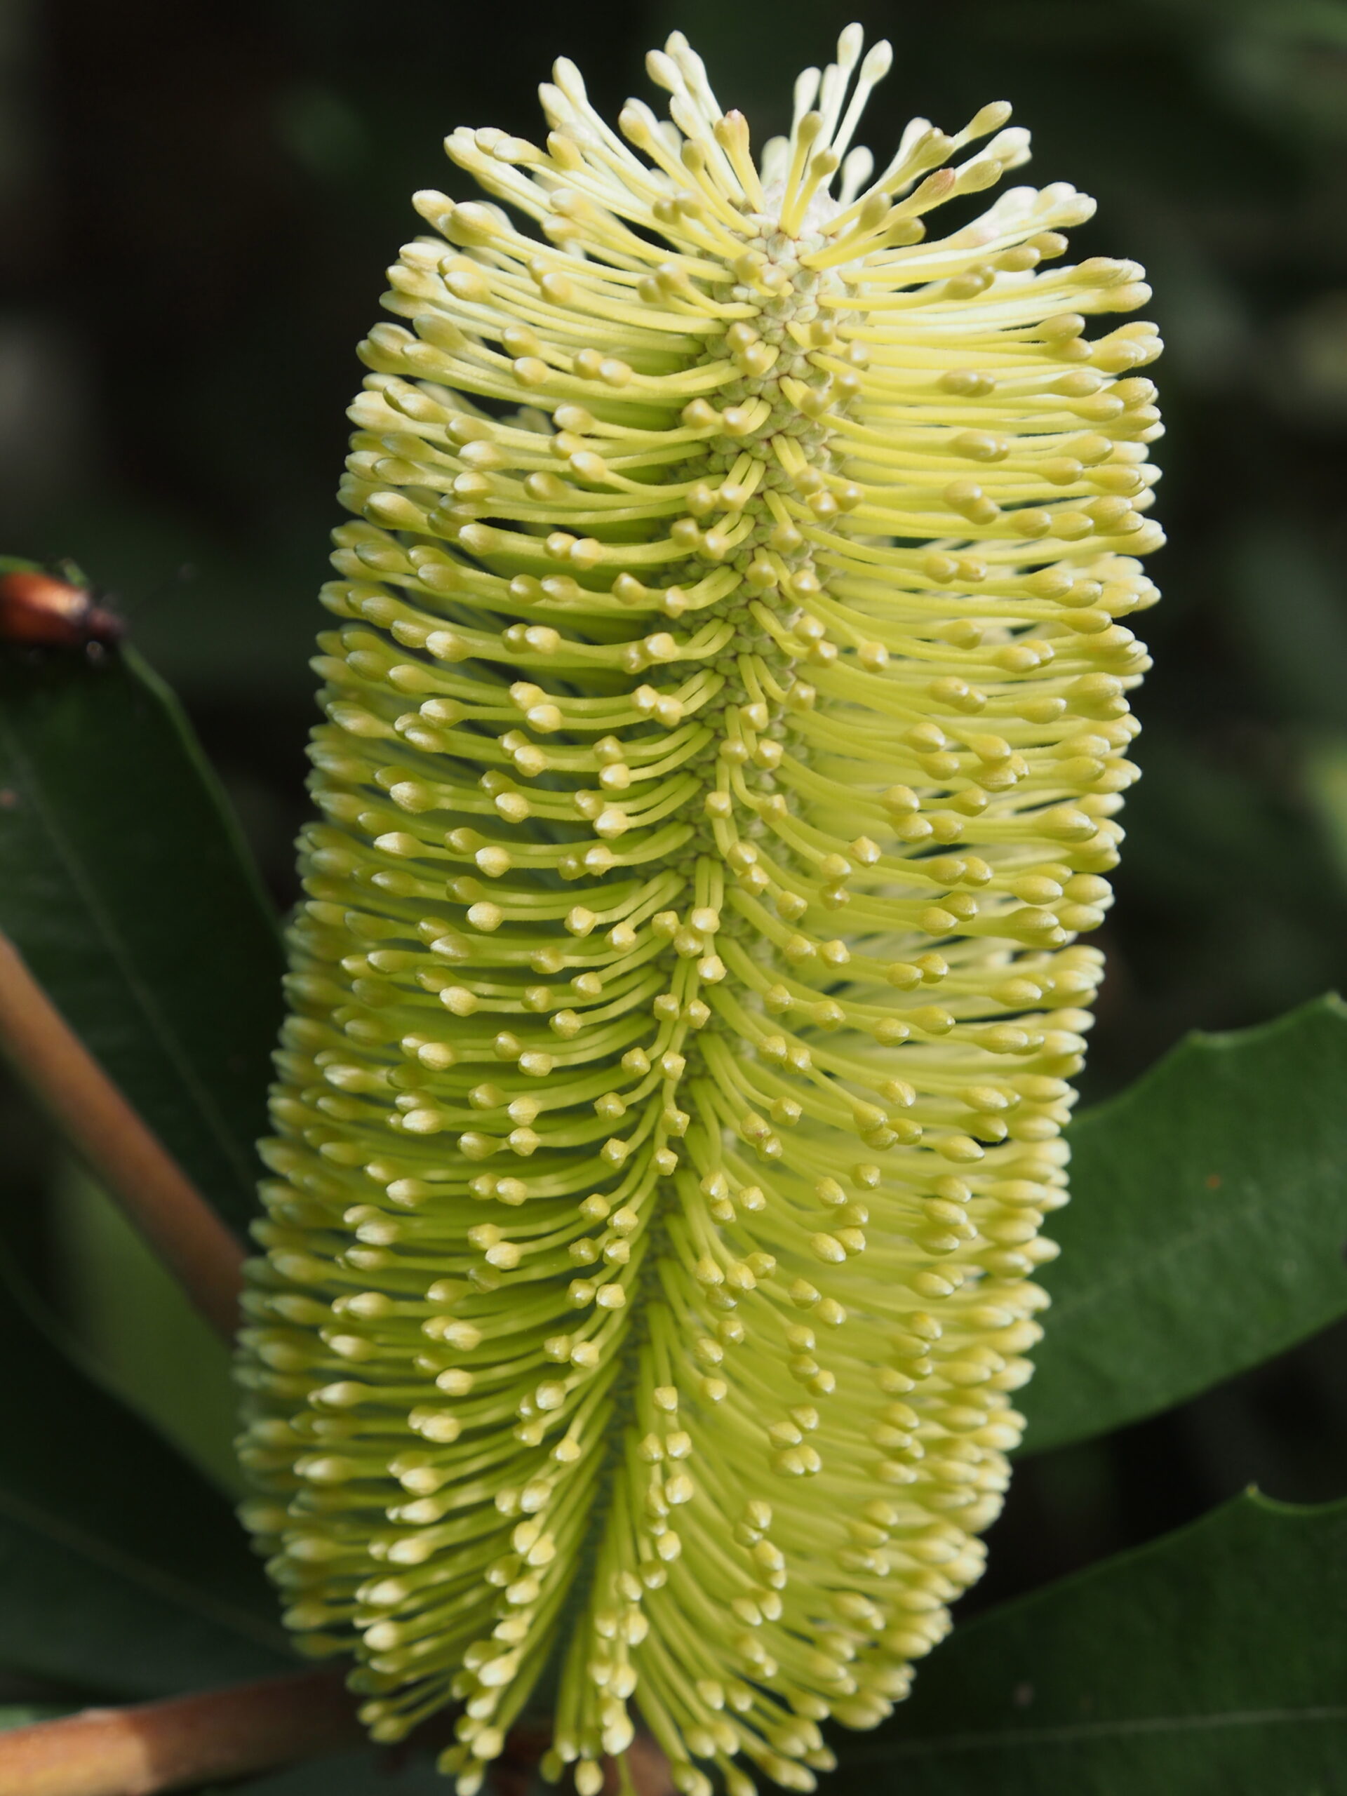
<instances>
[{"instance_id":1,"label":"light brown stem in the bottom left corner, nearly horizontal","mask_svg":"<svg viewBox=\"0 0 1347 1796\"><path fill-rule=\"evenodd\" d=\"M359 1746L339 1672L300 1672L0 1733L4 1796L154 1796Z\"/></svg>"}]
</instances>

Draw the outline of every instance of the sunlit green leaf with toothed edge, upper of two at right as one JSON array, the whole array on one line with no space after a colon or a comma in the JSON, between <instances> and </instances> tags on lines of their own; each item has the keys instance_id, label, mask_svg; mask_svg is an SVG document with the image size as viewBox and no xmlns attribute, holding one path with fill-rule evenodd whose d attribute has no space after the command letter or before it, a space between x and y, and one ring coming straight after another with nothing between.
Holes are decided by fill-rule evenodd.
<instances>
[{"instance_id":1,"label":"sunlit green leaf with toothed edge, upper of two at right","mask_svg":"<svg viewBox=\"0 0 1347 1796\"><path fill-rule=\"evenodd\" d=\"M1194 1034L1070 1131L1033 1451L1151 1415L1347 1311L1347 1006Z\"/></svg>"}]
</instances>

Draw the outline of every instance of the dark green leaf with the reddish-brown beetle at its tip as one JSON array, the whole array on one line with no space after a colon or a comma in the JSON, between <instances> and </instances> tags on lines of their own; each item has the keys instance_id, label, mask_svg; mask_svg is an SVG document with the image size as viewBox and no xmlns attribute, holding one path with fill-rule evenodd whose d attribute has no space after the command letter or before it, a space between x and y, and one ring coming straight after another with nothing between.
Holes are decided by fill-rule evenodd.
<instances>
[{"instance_id":1,"label":"dark green leaf with the reddish-brown beetle at its tip","mask_svg":"<svg viewBox=\"0 0 1347 1796\"><path fill-rule=\"evenodd\" d=\"M280 945L190 727L133 650L0 648L0 930L242 1230Z\"/></svg>"}]
</instances>

